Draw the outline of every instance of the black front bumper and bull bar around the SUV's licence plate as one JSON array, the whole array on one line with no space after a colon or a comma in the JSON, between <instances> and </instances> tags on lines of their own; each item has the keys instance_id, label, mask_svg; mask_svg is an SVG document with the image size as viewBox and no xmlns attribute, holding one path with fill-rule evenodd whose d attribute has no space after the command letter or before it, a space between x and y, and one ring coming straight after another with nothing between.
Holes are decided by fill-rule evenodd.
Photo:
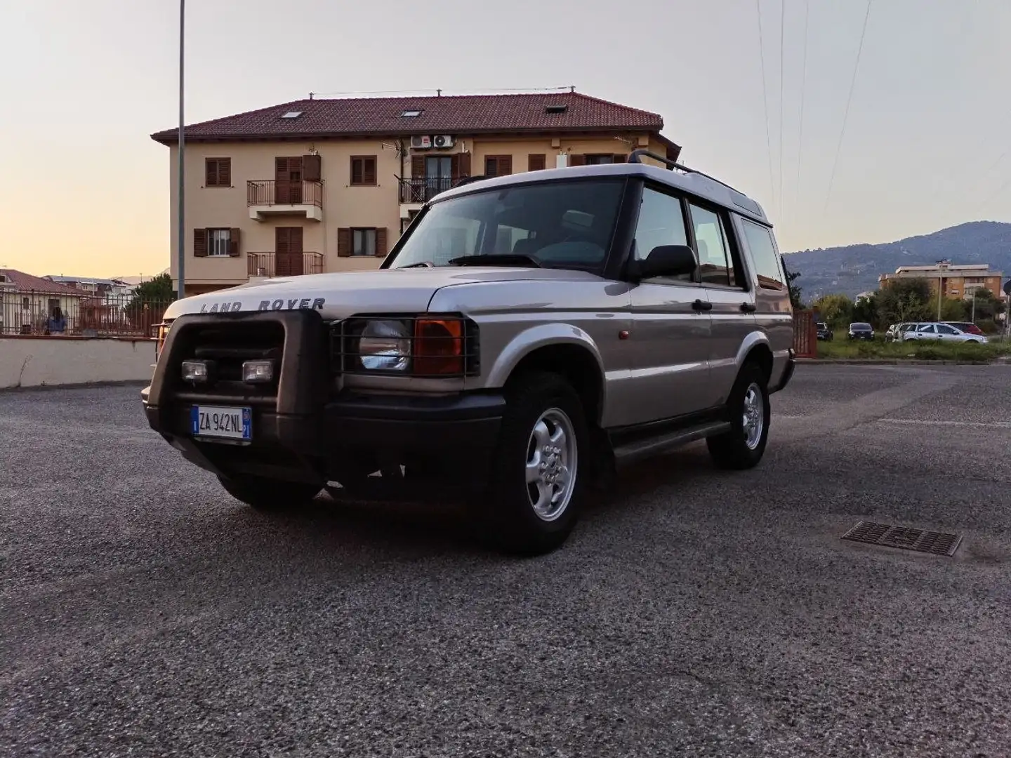
<instances>
[{"instance_id":1,"label":"black front bumper and bull bar around the SUV's licence plate","mask_svg":"<svg viewBox=\"0 0 1011 758\"><path fill-rule=\"evenodd\" d=\"M335 393L327 330L318 314L238 317L251 322L257 316L279 319L285 328L276 397L196 392L175 380L188 350L187 328L205 325L213 316L181 317L169 334L151 386L142 390L141 398L149 425L187 460L226 477L340 481L336 474L351 459L420 462L426 468L452 461L460 478L485 476L505 407L500 394ZM295 360L289 360L292 355ZM190 411L201 402L251 407L252 442L194 439Z\"/></svg>"}]
</instances>

